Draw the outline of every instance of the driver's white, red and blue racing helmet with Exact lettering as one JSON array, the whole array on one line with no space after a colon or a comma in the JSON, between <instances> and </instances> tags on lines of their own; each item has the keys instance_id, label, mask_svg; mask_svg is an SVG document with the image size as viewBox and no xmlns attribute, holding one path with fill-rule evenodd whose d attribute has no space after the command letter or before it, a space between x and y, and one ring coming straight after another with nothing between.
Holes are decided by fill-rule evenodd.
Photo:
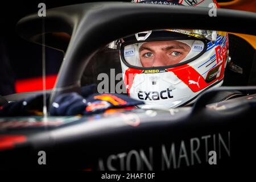
<instances>
[{"instance_id":1,"label":"driver's white, red and blue racing helmet with Exact lettering","mask_svg":"<svg viewBox=\"0 0 256 182\"><path fill-rule=\"evenodd\" d=\"M133 2L207 7L213 3ZM192 103L205 89L222 85L228 34L211 30L149 30L122 38L118 47L129 96L144 101L143 108L174 108Z\"/></svg>"}]
</instances>

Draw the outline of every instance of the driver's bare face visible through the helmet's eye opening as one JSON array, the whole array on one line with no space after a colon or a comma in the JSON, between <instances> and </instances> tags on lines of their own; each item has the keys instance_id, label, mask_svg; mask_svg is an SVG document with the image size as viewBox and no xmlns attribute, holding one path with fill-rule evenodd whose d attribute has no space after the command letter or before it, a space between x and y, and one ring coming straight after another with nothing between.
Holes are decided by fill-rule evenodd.
<instances>
[{"instance_id":1,"label":"driver's bare face visible through the helmet's eye opening","mask_svg":"<svg viewBox=\"0 0 256 182\"><path fill-rule=\"evenodd\" d=\"M139 48L139 59L143 67L169 66L183 60L190 49L176 40L147 42Z\"/></svg>"}]
</instances>

